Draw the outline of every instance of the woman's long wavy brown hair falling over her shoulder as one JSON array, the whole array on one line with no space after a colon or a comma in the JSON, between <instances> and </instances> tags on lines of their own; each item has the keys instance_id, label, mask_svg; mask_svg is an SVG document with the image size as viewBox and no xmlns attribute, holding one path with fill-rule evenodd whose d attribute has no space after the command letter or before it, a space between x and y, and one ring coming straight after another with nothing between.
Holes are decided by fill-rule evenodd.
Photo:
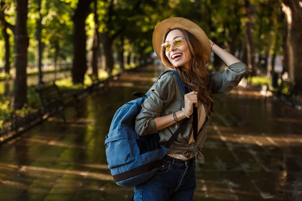
<instances>
[{"instance_id":1,"label":"woman's long wavy brown hair falling over her shoulder","mask_svg":"<svg viewBox=\"0 0 302 201\"><path fill-rule=\"evenodd\" d=\"M187 84L188 87L198 92L198 99L207 104L208 111L214 112L215 102L212 93L208 88L209 74L201 56L202 49L199 41L190 32L184 29L175 28L166 31L163 43L166 41L168 33L176 29L180 30L188 41L188 46L192 54L189 70L187 72L182 67L175 67L172 65L163 49L161 50L162 61L168 68L177 71L182 81Z\"/></svg>"}]
</instances>

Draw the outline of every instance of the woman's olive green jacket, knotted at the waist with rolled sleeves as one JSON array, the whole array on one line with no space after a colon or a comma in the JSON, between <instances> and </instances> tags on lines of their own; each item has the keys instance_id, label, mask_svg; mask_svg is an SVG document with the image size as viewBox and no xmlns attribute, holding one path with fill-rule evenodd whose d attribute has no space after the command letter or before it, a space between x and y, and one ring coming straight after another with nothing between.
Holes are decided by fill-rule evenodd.
<instances>
[{"instance_id":1,"label":"woman's olive green jacket, knotted at the waist with rolled sleeves","mask_svg":"<svg viewBox=\"0 0 302 201\"><path fill-rule=\"evenodd\" d=\"M243 62L238 62L229 66L224 72L215 72L209 75L209 87L212 93L226 93L237 86L241 79L251 73L251 70ZM159 133L160 144L165 144L172 134L177 130L175 125L157 131L155 118L171 115L172 112L180 111L184 108L184 96L179 86L176 75L173 72L164 74L157 84L151 89L150 96L144 100L140 113L136 116L135 131L138 135ZM196 143L188 144L190 135L193 132L192 121L190 118L185 128L178 135L167 154L182 154L188 158L196 157L199 163L204 163L201 153L206 133L207 125L211 118L211 112L206 111L206 120L198 132ZM182 124L182 121L180 122Z\"/></svg>"}]
</instances>

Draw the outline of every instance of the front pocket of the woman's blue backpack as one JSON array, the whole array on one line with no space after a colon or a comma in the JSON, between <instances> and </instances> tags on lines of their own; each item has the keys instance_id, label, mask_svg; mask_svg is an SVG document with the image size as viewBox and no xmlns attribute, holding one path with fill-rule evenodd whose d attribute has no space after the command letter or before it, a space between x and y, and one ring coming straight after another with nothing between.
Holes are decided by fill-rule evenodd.
<instances>
[{"instance_id":1,"label":"front pocket of the woman's blue backpack","mask_svg":"<svg viewBox=\"0 0 302 201\"><path fill-rule=\"evenodd\" d=\"M108 137L108 138L107 138ZM127 128L111 131L105 140L108 167L116 167L134 160L131 153Z\"/></svg>"}]
</instances>

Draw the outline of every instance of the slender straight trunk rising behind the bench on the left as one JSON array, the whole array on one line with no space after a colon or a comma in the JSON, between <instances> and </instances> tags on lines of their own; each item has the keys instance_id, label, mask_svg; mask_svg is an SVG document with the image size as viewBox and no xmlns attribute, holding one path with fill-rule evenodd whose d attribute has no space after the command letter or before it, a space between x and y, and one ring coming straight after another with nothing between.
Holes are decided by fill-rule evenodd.
<instances>
[{"instance_id":1,"label":"slender straight trunk rising behind the bench on the left","mask_svg":"<svg viewBox=\"0 0 302 201\"><path fill-rule=\"evenodd\" d=\"M41 42L41 31L42 31L42 16L41 16L41 2L42 0L36 0L36 4L38 6L38 15L39 19L37 20L37 31L36 31L36 40L37 40L37 57L36 57L36 66L38 67L38 78L39 85L43 83L43 75L42 75L42 42Z\"/></svg>"}]
</instances>

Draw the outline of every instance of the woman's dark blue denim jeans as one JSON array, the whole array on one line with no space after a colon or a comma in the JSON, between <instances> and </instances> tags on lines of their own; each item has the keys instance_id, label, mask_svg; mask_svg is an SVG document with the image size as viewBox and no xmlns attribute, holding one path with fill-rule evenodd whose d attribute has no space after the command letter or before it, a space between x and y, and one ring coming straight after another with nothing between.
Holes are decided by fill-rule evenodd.
<instances>
[{"instance_id":1,"label":"woman's dark blue denim jeans","mask_svg":"<svg viewBox=\"0 0 302 201\"><path fill-rule=\"evenodd\" d=\"M192 200L195 188L195 158L182 161L166 155L153 177L134 186L134 201Z\"/></svg>"}]
</instances>

